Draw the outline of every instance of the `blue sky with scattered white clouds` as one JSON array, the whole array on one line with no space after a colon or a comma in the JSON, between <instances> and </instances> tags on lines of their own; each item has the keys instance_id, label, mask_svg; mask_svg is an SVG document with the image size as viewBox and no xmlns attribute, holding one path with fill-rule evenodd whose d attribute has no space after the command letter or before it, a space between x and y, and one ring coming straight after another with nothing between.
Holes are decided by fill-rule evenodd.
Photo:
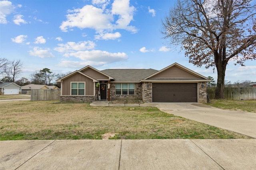
<instances>
[{"instance_id":1,"label":"blue sky with scattered white clouds","mask_svg":"<svg viewBox=\"0 0 256 170\"><path fill-rule=\"evenodd\" d=\"M217 81L216 68L189 63L170 48L162 20L176 0L2 0L0 58L22 61L21 77L36 70L56 74L90 65L104 69L161 70L179 63ZM256 82L256 61L229 61L227 81ZM215 70L215 71L213 71ZM1 77L1 75L0 75Z\"/></svg>"}]
</instances>

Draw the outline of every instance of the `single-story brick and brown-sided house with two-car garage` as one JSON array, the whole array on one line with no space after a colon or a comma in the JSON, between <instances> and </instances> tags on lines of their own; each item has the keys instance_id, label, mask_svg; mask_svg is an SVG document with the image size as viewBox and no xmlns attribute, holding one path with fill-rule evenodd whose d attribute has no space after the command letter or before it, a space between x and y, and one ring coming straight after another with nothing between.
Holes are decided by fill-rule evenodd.
<instances>
[{"instance_id":1,"label":"single-story brick and brown-sided house with two-car garage","mask_svg":"<svg viewBox=\"0 0 256 170\"><path fill-rule=\"evenodd\" d=\"M57 80L60 101L142 100L207 102L210 79L174 63L162 70L106 69L86 66Z\"/></svg>"}]
</instances>

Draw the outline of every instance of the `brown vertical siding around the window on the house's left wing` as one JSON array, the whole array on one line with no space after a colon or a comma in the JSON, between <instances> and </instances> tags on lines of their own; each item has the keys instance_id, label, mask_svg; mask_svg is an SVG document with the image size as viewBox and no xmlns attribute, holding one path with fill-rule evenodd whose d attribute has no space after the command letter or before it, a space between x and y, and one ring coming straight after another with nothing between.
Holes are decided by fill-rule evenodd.
<instances>
[{"instance_id":1,"label":"brown vertical siding around the window on the house's left wing","mask_svg":"<svg viewBox=\"0 0 256 170\"><path fill-rule=\"evenodd\" d=\"M74 74L73 76L63 80L61 87L62 95L70 95L70 82L86 82L85 95L94 95L93 80L79 73Z\"/></svg>"}]
</instances>

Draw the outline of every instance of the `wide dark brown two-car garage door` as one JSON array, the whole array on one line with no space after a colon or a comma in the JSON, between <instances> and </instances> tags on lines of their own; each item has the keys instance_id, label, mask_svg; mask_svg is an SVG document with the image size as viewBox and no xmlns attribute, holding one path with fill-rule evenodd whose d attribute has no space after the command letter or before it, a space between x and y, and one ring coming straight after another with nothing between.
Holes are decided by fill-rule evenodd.
<instances>
[{"instance_id":1,"label":"wide dark brown two-car garage door","mask_svg":"<svg viewBox=\"0 0 256 170\"><path fill-rule=\"evenodd\" d=\"M153 102L197 102L197 83L153 83Z\"/></svg>"}]
</instances>

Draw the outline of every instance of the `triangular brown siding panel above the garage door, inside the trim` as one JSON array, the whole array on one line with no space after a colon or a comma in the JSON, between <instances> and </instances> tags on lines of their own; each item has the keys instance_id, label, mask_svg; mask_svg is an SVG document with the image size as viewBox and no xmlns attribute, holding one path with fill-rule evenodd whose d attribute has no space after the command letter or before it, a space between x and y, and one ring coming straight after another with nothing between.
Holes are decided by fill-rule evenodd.
<instances>
[{"instance_id":1,"label":"triangular brown siding panel above the garage door, inside the trim","mask_svg":"<svg viewBox=\"0 0 256 170\"><path fill-rule=\"evenodd\" d=\"M190 74L189 72L186 72L177 66L173 66L151 78L198 78L198 76Z\"/></svg>"}]
</instances>

